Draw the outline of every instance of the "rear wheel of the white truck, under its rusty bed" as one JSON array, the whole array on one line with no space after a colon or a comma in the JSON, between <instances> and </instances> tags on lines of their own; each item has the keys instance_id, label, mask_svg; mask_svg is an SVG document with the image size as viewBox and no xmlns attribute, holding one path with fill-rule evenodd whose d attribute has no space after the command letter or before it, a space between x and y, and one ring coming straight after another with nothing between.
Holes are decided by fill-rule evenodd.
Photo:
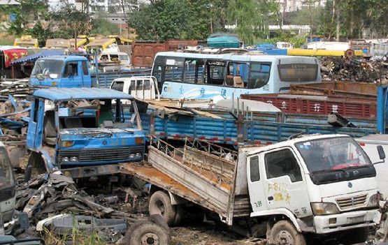
<instances>
[{"instance_id":1,"label":"rear wheel of the white truck, under its rusty bed","mask_svg":"<svg viewBox=\"0 0 388 245\"><path fill-rule=\"evenodd\" d=\"M156 191L151 195L148 204L150 215L160 214L168 225L174 225L176 207L171 205L170 197L164 191Z\"/></svg>"}]
</instances>

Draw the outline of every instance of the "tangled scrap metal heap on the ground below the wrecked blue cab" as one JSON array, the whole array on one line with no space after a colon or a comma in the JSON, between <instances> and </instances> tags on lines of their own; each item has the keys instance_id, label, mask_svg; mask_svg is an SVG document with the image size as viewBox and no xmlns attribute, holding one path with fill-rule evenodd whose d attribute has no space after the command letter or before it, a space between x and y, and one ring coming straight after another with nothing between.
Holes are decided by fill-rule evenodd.
<instances>
[{"instance_id":1,"label":"tangled scrap metal heap on the ground below the wrecked blue cab","mask_svg":"<svg viewBox=\"0 0 388 245\"><path fill-rule=\"evenodd\" d=\"M143 213L147 210L147 200L141 197L141 189L109 184L104 187L108 187L106 193L110 194L101 194L100 189L99 195L89 195L78 188L71 177L59 171L38 175L17 187L15 209L28 215L27 232L32 235L40 232L44 237L45 233L51 232L71 239L77 230L85 234L95 232L107 244L134 244L129 240L134 239L136 228L142 226L156 230L161 238L169 240L168 225L163 223L161 216L152 216L146 221ZM7 224L13 235L24 232L13 224L17 224L16 219ZM127 230L127 227L131 229Z\"/></svg>"}]
</instances>

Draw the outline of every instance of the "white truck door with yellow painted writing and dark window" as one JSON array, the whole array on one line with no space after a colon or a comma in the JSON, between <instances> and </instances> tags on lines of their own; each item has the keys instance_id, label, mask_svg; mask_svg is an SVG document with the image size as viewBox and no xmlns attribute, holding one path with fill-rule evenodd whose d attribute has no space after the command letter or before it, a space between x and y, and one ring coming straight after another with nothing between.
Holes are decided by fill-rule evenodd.
<instances>
[{"instance_id":1,"label":"white truck door with yellow painted writing and dark window","mask_svg":"<svg viewBox=\"0 0 388 245\"><path fill-rule=\"evenodd\" d=\"M299 158L290 147L265 151L259 155L264 167L264 191L268 209L285 208L296 217L311 216L306 181Z\"/></svg>"}]
</instances>

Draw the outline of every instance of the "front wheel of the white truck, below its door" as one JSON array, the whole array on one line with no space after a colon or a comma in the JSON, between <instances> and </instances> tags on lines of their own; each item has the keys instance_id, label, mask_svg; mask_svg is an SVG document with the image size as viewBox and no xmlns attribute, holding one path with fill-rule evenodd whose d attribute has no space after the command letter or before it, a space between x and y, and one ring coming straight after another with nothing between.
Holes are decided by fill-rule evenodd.
<instances>
[{"instance_id":1,"label":"front wheel of the white truck, below its door","mask_svg":"<svg viewBox=\"0 0 388 245\"><path fill-rule=\"evenodd\" d=\"M306 239L289 221L276 222L267 230L267 244L306 245Z\"/></svg>"}]
</instances>

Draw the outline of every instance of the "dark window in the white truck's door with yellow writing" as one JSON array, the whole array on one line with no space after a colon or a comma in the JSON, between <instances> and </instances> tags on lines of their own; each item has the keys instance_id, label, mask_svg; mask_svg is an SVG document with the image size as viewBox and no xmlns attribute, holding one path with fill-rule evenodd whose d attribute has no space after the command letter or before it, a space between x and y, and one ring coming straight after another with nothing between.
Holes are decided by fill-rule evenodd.
<instances>
[{"instance_id":1,"label":"dark window in the white truck's door with yellow writing","mask_svg":"<svg viewBox=\"0 0 388 245\"><path fill-rule=\"evenodd\" d=\"M264 157L267 179L289 176L292 182L301 181L301 168L290 149L272 151Z\"/></svg>"}]
</instances>

